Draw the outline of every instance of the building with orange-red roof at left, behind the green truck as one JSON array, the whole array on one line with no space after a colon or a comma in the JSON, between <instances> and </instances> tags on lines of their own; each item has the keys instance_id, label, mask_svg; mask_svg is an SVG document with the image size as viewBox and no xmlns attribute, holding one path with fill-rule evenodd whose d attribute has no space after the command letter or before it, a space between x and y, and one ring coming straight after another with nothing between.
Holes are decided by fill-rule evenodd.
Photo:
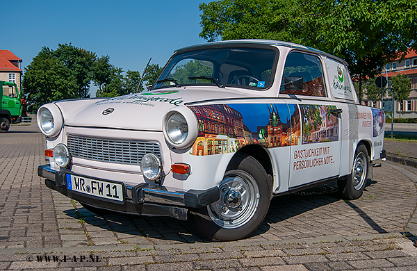
<instances>
[{"instance_id":1,"label":"building with orange-red roof at left, behind the green truck","mask_svg":"<svg viewBox=\"0 0 417 271\"><path fill-rule=\"evenodd\" d=\"M22 59L18 58L9 50L0 50L0 81L16 83L20 89Z\"/></svg>"}]
</instances>

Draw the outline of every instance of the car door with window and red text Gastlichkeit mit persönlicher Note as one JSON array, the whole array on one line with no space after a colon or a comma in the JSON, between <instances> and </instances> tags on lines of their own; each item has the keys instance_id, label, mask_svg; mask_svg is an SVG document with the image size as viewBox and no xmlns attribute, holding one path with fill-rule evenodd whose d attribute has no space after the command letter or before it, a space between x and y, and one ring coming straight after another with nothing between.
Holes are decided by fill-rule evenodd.
<instances>
[{"instance_id":1,"label":"car door with window and red text Gastlichkeit mit pers\u00f6nlicher Note","mask_svg":"<svg viewBox=\"0 0 417 271\"><path fill-rule=\"evenodd\" d=\"M286 58L279 97L297 104L301 130L300 144L291 146L290 190L340 174L341 114L329 98L323 67L319 56L302 51Z\"/></svg>"}]
</instances>

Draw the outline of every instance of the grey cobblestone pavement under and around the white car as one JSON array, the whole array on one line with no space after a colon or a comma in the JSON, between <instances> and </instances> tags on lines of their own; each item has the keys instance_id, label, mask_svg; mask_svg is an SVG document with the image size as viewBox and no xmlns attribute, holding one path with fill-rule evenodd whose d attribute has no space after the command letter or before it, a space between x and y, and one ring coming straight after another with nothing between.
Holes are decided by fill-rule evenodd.
<instances>
[{"instance_id":1,"label":"grey cobblestone pavement under and around the white car","mask_svg":"<svg viewBox=\"0 0 417 271\"><path fill-rule=\"evenodd\" d=\"M414 167L382 163L354 201L276 197L250 238L211 243L190 222L90 213L44 186L43 151L35 124L0 134L0 270L417 270Z\"/></svg>"}]
</instances>

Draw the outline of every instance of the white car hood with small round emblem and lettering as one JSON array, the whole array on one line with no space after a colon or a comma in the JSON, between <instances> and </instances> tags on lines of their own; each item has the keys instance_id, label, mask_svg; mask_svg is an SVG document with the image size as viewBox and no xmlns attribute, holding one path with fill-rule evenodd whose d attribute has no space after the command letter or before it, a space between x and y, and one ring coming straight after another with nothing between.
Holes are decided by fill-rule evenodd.
<instances>
[{"instance_id":1,"label":"white car hood with small round emblem and lettering","mask_svg":"<svg viewBox=\"0 0 417 271\"><path fill-rule=\"evenodd\" d=\"M80 101L63 101L56 105L67 126L162 131L163 116L173 108L199 101L253 96L253 93L249 95L236 89L195 87L95 99L81 104Z\"/></svg>"}]
</instances>

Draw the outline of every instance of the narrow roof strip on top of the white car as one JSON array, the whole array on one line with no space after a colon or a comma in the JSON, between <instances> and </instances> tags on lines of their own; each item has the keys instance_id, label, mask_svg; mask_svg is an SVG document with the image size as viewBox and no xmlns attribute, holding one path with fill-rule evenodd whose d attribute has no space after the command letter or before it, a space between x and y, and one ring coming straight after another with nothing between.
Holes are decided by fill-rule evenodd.
<instances>
[{"instance_id":1,"label":"narrow roof strip on top of the white car","mask_svg":"<svg viewBox=\"0 0 417 271\"><path fill-rule=\"evenodd\" d=\"M222 41L218 41L218 42L207 42L207 43L202 43L202 44L195 44L195 45L191 45L188 47L183 47L181 49L178 49L176 51L174 51L174 54L177 53L181 53L182 51L193 51L195 49L203 49L205 47L218 47L218 46L222 46L222 45L239 45L239 44L263 44L263 45L271 45L271 46L276 46L276 47L291 47L291 48L297 48L297 49L302 49L304 51L311 51L313 53L316 54L321 54L323 56L328 56L329 58L334 58L338 61L340 61L341 63L343 63L344 65L347 66L347 63L345 60L338 58L337 56L333 56L331 54L327 54L324 51L320 51L318 49L314 49L308 46L304 46L301 44L296 44L296 43L292 43L292 42L282 42L279 40L222 40Z\"/></svg>"}]
</instances>

